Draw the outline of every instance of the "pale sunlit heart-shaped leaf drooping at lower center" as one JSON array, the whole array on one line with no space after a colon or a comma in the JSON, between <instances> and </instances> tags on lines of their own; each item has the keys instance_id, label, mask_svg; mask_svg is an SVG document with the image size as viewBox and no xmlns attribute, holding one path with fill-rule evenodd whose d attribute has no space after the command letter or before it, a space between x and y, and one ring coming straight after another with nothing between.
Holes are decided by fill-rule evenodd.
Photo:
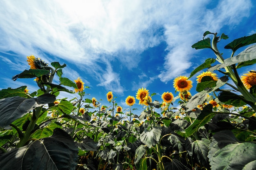
<instances>
[{"instance_id":1,"label":"pale sunlit heart-shaped leaf drooping at lower center","mask_svg":"<svg viewBox=\"0 0 256 170\"><path fill-rule=\"evenodd\" d=\"M140 135L139 139L148 146L148 148L151 148L153 145L157 144L160 140L161 136L161 127L153 127L150 130L144 130Z\"/></svg>"}]
</instances>

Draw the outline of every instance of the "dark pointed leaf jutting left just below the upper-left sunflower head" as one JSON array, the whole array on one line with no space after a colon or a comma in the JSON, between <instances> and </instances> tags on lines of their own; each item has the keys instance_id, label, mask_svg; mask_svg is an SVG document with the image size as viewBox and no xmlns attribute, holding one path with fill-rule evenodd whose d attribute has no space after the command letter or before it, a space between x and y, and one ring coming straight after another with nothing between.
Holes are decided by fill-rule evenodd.
<instances>
[{"instance_id":1,"label":"dark pointed leaf jutting left just below the upper-left sunflower head","mask_svg":"<svg viewBox=\"0 0 256 170\"><path fill-rule=\"evenodd\" d=\"M29 69L25 70L20 74L14 75L12 80L16 80L18 78L33 78L33 77L42 77L43 75L49 74L49 70L41 70L41 69Z\"/></svg>"}]
</instances>

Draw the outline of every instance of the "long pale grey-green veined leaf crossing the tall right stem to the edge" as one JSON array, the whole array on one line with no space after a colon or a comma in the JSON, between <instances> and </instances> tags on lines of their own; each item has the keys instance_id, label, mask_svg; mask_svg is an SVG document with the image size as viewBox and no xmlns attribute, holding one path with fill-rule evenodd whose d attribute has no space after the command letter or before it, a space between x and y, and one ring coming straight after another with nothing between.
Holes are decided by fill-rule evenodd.
<instances>
[{"instance_id":1,"label":"long pale grey-green veined leaf crossing the tall right stem to the edge","mask_svg":"<svg viewBox=\"0 0 256 170\"><path fill-rule=\"evenodd\" d=\"M252 45L252 46L249 46L244 51L242 51L241 53L239 53L238 55L225 59L224 63L217 64L216 66L209 68L208 71L219 70L220 68L224 68L226 66L242 63L239 65L239 68L240 68L241 66L248 66L248 65L254 64L255 60L256 60L256 45Z\"/></svg>"}]
</instances>

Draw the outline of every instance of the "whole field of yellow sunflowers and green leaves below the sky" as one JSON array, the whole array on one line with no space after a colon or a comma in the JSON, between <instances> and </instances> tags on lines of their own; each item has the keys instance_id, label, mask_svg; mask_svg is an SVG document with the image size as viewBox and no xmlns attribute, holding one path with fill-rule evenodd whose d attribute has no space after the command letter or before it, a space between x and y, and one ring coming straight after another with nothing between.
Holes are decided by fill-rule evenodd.
<instances>
[{"instance_id":1,"label":"whole field of yellow sunflowers and green leaves below the sky","mask_svg":"<svg viewBox=\"0 0 256 170\"><path fill-rule=\"evenodd\" d=\"M192 48L210 49L216 57L189 77L176 77L177 96L165 92L159 102L156 93L141 87L126 98L128 110L111 91L108 106L86 98L89 87L82 79L62 77L65 64L28 56L30 69L12 79L35 78L38 90L0 91L0 169L255 170L256 71L239 76L238 68L256 63L256 34L227 44L231 55L223 57L217 44L227 38L206 31ZM60 99L60 92L79 97ZM143 106L140 115L135 102Z\"/></svg>"}]
</instances>

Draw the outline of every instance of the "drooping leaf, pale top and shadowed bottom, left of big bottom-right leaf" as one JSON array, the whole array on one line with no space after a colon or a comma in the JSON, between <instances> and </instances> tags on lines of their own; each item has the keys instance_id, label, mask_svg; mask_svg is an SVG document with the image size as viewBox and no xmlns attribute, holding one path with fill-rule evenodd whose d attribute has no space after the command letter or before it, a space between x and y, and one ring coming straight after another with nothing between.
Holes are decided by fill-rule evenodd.
<instances>
[{"instance_id":1,"label":"drooping leaf, pale top and shadowed bottom, left of big bottom-right leaf","mask_svg":"<svg viewBox=\"0 0 256 170\"><path fill-rule=\"evenodd\" d=\"M210 150L210 144L211 141L205 138L202 138L202 140L196 140L191 144L193 159L195 159L199 163L202 163L202 165L206 168L210 168L209 159L207 157Z\"/></svg>"}]
</instances>

